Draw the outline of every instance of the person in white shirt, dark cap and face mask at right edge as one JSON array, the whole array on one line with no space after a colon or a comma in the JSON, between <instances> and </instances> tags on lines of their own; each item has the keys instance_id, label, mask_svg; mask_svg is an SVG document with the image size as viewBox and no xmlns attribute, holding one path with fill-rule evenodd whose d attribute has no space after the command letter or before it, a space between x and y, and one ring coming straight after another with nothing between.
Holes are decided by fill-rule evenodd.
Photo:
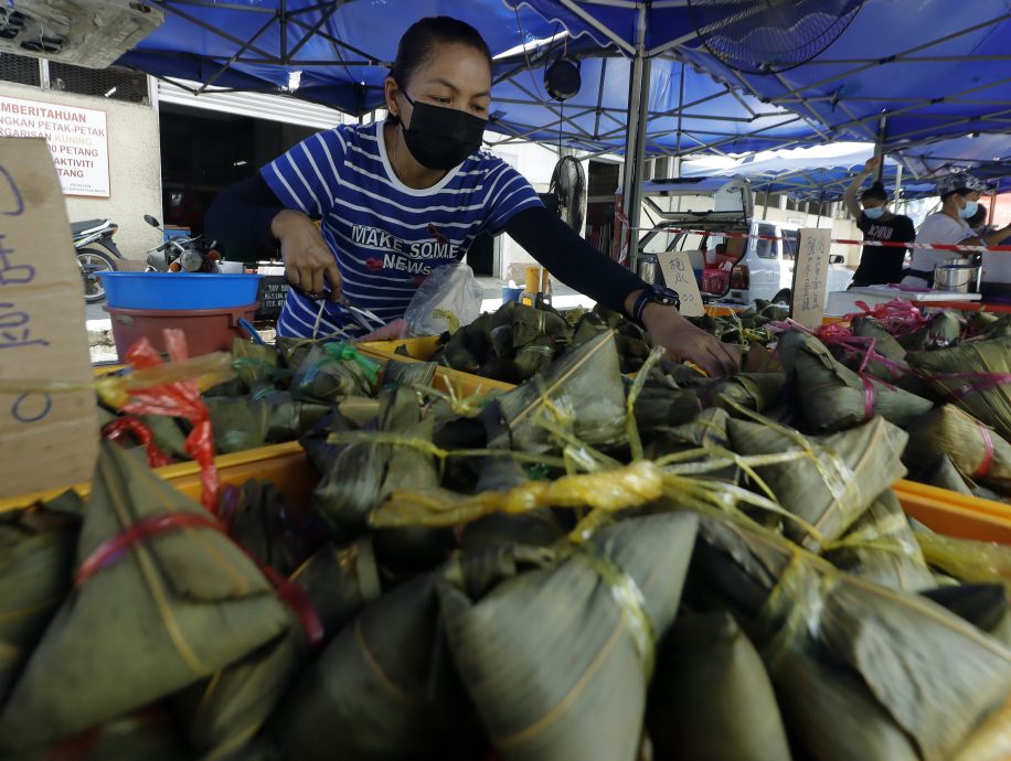
<instances>
[{"instance_id":1,"label":"person in white shirt, dark cap and face mask at right edge","mask_svg":"<svg viewBox=\"0 0 1011 761\"><path fill-rule=\"evenodd\" d=\"M986 185L977 178L966 172L945 174L936 182L937 194L940 196L940 211L930 214L919 226L916 243L932 244L962 244L966 246L996 246L1009 234L1011 225L999 231L978 235L969 226L976 212L979 210L979 197ZM960 256L969 259L969 253L945 251L917 248L913 251L913 266L903 278L903 286L914 288L932 288L934 286L934 268L945 259Z\"/></svg>"}]
</instances>

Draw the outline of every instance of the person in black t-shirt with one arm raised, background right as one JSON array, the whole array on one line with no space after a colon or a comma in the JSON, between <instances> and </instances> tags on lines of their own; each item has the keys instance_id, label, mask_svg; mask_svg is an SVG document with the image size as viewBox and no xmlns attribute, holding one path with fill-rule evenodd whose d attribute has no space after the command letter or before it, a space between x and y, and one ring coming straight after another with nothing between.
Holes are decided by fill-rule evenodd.
<instances>
[{"instance_id":1,"label":"person in black t-shirt with one arm raised, background right","mask_svg":"<svg viewBox=\"0 0 1011 761\"><path fill-rule=\"evenodd\" d=\"M875 182L860 195L860 202L856 201L863 181L877 171L880 165L881 159L875 157L853 178L843 195L847 208L856 218L856 227L863 233L864 240L909 243L916 236L913 221L888 210L888 194L885 193L884 185ZM897 246L864 246L860 254L860 266L853 274L850 288L898 282L902 279L902 262L907 250L909 249Z\"/></svg>"}]
</instances>

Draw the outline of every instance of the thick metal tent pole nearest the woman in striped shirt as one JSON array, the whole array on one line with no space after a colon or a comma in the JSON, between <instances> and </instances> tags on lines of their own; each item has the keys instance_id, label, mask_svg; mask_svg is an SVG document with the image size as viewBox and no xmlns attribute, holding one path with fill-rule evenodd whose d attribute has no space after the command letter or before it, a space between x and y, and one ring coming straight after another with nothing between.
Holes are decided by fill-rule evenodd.
<instances>
[{"instance_id":1,"label":"thick metal tent pole nearest the woman in striped shirt","mask_svg":"<svg viewBox=\"0 0 1011 761\"><path fill-rule=\"evenodd\" d=\"M642 170L646 164L646 117L649 107L650 61L646 57L646 4L638 4L636 56L632 58L628 92L628 133L625 141L625 172L621 179L624 212L628 221L628 266L637 271L639 218L642 205Z\"/></svg>"}]
</instances>

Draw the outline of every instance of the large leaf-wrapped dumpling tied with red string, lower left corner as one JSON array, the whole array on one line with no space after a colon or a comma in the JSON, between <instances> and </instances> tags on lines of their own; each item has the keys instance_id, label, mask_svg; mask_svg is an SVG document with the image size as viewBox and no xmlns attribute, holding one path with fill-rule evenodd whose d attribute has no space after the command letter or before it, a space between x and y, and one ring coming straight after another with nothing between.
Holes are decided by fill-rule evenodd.
<instances>
[{"instance_id":1,"label":"large leaf-wrapped dumpling tied with red string, lower left corner","mask_svg":"<svg viewBox=\"0 0 1011 761\"><path fill-rule=\"evenodd\" d=\"M0 714L4 748L51 743L146 706L288 624L273 587L223 527L115 446L102 446L84 515L78 582ZM182 526L157 530L173 523ZM131 543L125 533L141 528L148 535ZM121 554L106 549L113 539L126 543Z\"/></svg>"}]
</instances>

